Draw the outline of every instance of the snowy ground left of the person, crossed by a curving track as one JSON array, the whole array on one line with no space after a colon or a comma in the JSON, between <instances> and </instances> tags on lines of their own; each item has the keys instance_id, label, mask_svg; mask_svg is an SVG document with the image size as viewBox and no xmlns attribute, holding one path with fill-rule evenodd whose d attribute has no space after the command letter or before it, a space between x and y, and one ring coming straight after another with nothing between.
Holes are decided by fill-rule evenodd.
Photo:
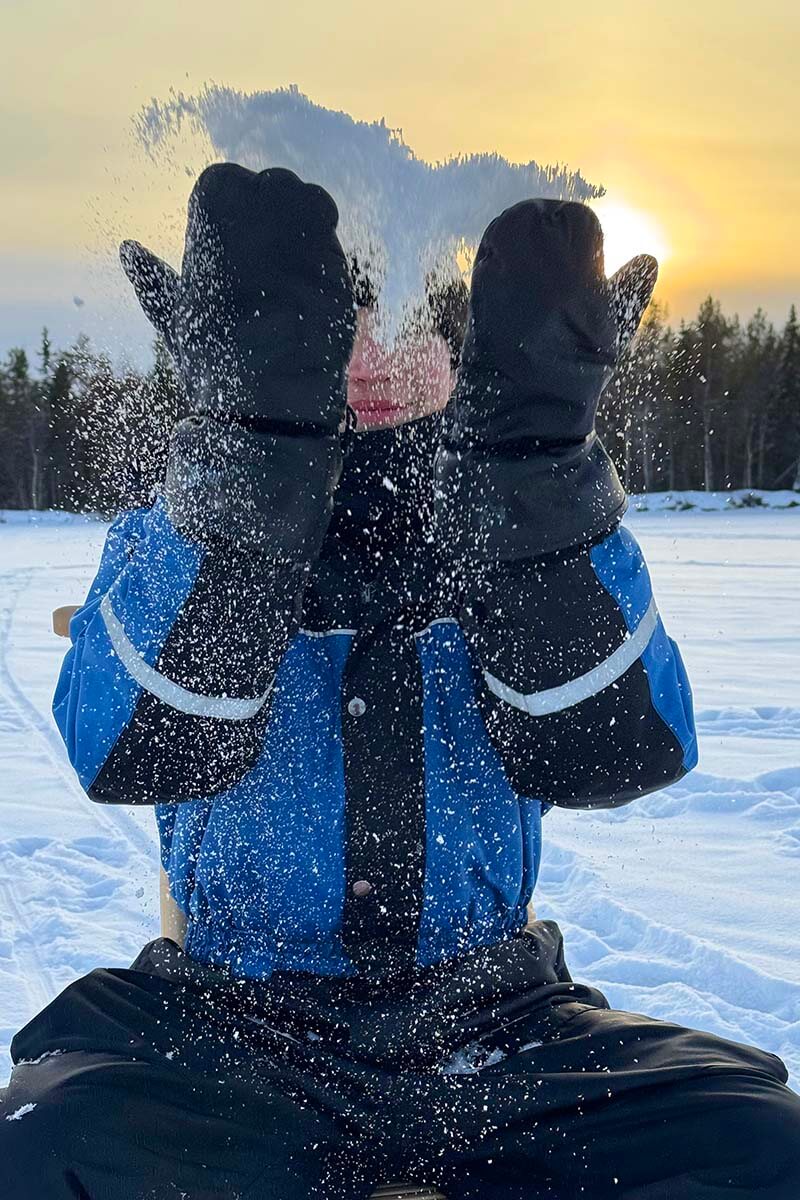
<instances>
[{"instance_id":1,"label":"snowy ground left of the person, crossed by a curving track","mask_svg":"<svg viewBox=\"0 0 800 1200\"><path fill-rule=\"evenodd\" d=\"M8 532L0 526L4 565ZM130 962L156 932L151 815L143 822L89 800L49 712L66 648L48 635L49 610L83 598L104 529L96 527L84 546L68 538L72 527L56 534L66 534L73 553L84 551L79 564L36 563L43 532L32 527L23 563L0 572L0 1080L17 1028L78 976ZM36 670L42 650L43 678Z\"/></svg>"}]
</instances>

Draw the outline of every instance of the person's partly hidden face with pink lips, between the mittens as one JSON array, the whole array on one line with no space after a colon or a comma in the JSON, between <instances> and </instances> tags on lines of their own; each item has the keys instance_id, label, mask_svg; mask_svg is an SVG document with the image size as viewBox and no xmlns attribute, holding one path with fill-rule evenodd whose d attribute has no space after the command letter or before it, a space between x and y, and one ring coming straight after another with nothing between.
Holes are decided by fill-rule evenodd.
<instances>
[{"instance_id":1,"label":"person's partly hidden face with pink lips, between the mittens","mask_svg":"<svg viewBox=\"0 0 800 1200\"><path fill-rule=\"evenodd\" d=\"M408 332L390 350L377 332L374 311L360 308L348 371L348 404L356 428L385 430L443 409L453 383L444 337Z\"/></svg>"}]
</instances>

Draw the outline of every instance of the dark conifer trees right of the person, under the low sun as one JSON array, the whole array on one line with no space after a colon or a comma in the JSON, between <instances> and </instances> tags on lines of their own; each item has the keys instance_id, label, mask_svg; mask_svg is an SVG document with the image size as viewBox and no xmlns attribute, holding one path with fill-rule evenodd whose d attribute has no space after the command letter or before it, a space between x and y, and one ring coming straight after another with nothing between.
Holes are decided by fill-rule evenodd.
<instances>
[{"instance_id":1,"label":"dark conifer trees right of the person, under the low sun","mask_svg":"<svg viewBox=\"0 0 800 1200\"><path fill-rule=\"evenodd\" d=\"M648 310L597 427L631 492L800 488L800 324Z\"/></svg>"}]
</instances>

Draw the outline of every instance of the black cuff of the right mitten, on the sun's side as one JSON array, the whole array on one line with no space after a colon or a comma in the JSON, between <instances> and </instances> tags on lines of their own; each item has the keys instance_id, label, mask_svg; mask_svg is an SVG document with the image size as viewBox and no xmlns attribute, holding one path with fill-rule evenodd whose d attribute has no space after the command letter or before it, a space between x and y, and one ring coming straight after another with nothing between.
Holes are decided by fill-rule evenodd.
<instances>
[{"instance_id":1,"label":"black cuff of the right mitten, on the sun's side","mask_svg":"<svg viewBox=\"0 0 800 1200\"><path fill-rule=\"evenodd\" d=\"M595 433L576 445L513 454L443 444L435 480L441 545L483 562L531 558L591 541L627 505Z\"/></svg>"}]
</instances>

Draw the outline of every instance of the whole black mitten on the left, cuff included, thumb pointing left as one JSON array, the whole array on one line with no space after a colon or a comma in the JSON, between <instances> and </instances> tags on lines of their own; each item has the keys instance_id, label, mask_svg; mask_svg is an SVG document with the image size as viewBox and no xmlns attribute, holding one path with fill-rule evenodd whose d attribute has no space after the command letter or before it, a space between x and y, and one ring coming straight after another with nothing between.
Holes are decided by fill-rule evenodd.
<instances>
[{"instance_id":1,"label":"whole black mitten on the left, cuff included, thumb pointing left","mask_svg":"<svg viewBox=\"0 0 800 1200\"><path fill-rule=\"evenodd\" d=\"M337 221L327 192L289 170L219 163L192 192L180 275L138 242L120 248L193 414L166 484L190 535L296 560L321 542L355 329Z\"/></svg>"}]
</instances>

